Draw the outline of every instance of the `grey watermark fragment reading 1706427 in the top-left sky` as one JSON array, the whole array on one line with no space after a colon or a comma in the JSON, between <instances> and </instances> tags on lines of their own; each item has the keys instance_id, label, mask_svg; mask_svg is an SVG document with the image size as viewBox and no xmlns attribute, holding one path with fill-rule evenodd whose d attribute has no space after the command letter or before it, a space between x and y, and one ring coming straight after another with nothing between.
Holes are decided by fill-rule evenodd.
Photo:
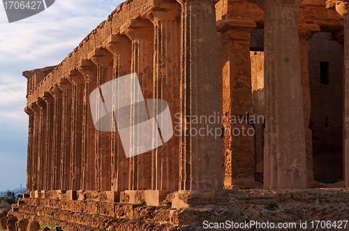
<instances>
[{"instance_id":1,"label":"grey watermark fragment reading 1706427 in the top-left sky","mask_svg":"<svg viewBox=\"0 0 349 231\"><path fill-rule=\"evenodd\" d=\"M8 1L3 0L3 6L6 11L8 22L17 22L36 15L54 3L55 0L21 0L21 1Z\"/></svg>"}]
</instances>

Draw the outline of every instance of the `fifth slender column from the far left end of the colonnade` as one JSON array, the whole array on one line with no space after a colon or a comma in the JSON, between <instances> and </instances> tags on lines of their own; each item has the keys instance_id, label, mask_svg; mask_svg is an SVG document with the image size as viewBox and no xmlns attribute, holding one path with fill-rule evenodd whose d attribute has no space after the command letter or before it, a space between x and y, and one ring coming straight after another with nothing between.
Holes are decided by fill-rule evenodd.
<instances>
[{"instance_id":1,"label":"fifth slender column from the far left end of the colonnade","mask_svg":"<svg viewBox=\"0 0 349 231\"><path fill-rule=\"evenodd\" d=\"M52 190L60 189L61 185L61 126L62 126L62 91L57 85L52 86L53 97L53 135L52 135Z\"/></svg>"}]
</instances>

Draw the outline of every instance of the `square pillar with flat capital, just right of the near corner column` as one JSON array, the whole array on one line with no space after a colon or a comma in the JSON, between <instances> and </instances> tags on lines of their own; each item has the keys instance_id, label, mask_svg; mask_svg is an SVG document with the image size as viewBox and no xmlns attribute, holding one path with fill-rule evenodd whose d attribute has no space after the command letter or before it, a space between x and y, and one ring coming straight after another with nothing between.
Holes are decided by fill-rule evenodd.
<instances>
[{"instance_id":1,"label":"square pillar with flat capital, just right of the near corner column","mask_svg":"<svg viewBox=\"0 0 349 231\"><path fill-rule=\"evenodd\" d=\"M225 147L230 147L225 151L225 187L253 186L255 181L255 130L246 119L239 120L246 118L252 108L250 31L255 26L253 21L237 19L226 19L218 24L223 52L226 52L222 63L223 83L229 83L229 92L223 90L223 97L230 98L223 102L230 103L223 107L228 109L223 111L228 128Z\"/></svg>"}]
</instances>

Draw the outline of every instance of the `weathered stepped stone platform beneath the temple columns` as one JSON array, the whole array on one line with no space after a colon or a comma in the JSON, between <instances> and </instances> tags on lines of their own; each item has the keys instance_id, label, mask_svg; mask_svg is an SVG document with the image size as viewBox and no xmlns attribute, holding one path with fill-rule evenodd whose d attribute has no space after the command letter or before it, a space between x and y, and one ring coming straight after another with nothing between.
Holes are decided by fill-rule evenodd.
<instances>
[{"instance_id":1,"label":"weathered stepped stone platform beneath the temple columns","mask_svg":"<svg viewBox=\"0 0 349 231\"><path fill-rule=\"evenodd\" d=\"M86 197L82 200L81 198L80 200L30 198L26 195L26 198L20 199L17 205L13 205L10 214L18 219L27 218L29 221L35 220L45 224L54 223L66 231L204 230L204 221L210 223L343 221L348 220L349 214L348 189L290 191L251 189L200 193L179 191L177 195L168 194L162 206L158 207L145 205L144 200L138 204L108 202L102 196L96 198L97 194L85 193ZM172 202L176 197L181 198L186 207L172 208Z\"/></svg>"}]
</instances>

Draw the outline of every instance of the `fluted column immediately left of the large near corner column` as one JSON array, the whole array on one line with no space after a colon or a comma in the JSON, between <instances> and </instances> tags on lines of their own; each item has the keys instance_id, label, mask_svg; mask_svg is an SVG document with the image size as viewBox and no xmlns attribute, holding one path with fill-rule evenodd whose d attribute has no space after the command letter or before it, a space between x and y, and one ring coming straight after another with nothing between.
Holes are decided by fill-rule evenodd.
<instances>
[{"instance_id":1,"label":"fluted column immediately left of the large near corner column","mask_svg":"<svg viewBox=\"0 0 349 231\"><path fill-rule=\"evenodd\" d=\"M154 6L147 15L154 24L153 95L155 99L164 99L168 102L172 123L176 122L175 115L179 113L180 11L179 3L162 3L160 7ZM158 105L157 102L154 106L155 111L164 110L161 108L163 105ZM154 149L151 154L151 189L178 189L178 132L170 141Z\"/></svg>"}]
</instances>

